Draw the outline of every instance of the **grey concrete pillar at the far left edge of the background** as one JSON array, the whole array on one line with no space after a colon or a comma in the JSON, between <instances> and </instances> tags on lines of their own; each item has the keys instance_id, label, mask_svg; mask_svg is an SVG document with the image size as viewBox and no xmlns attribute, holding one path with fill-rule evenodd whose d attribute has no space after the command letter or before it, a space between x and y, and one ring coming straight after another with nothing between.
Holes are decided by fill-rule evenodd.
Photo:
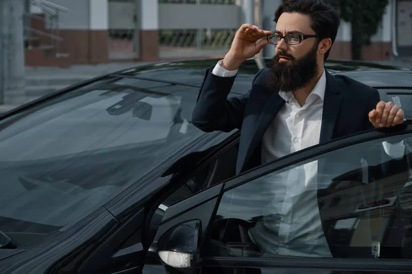
<instances>
[{"instance_id":1,"label":"grey concrete pillar at the far left edge of the background","mask_svg":"<svg viewBox=\"0 0 412 274\"><path fill-rule=\"evenodd\" d=\"M24 0L0 1L0 103L25 103Z\"/></svg>"}]
</instances>

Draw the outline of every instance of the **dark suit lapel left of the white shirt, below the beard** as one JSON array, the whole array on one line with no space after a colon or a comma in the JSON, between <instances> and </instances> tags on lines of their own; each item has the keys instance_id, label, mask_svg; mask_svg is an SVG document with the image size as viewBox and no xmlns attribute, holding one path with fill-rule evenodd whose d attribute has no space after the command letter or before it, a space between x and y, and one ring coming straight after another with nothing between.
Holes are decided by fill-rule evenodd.
<instances>
[{"instance_id":1,"label":"dark suit lapel left of the white shirt, below the beard","mask_svg":"<svg viewBox=\"0 0 412 274\"><path fill-rule=\"evenodd\" d=\"M243 161L240 161L240 166L242 166L241 169L243 169L245 164L247 164L247 162L251 158L251 155L253 154L253 151L255 151L256 147L258 147L259 142L262 140L262 137L264 136L269 125L285 103L284 99L279 96L278 91L262 90L262 92L270 92L270 96L267 98L266 105L264 106L263 111L260 114L258 123L253 130L253 134L251 134L250 142L248 142L247 144L249 145L249 147L247 148L247 153L244 155Z\"/></svg>"}]
</instances>

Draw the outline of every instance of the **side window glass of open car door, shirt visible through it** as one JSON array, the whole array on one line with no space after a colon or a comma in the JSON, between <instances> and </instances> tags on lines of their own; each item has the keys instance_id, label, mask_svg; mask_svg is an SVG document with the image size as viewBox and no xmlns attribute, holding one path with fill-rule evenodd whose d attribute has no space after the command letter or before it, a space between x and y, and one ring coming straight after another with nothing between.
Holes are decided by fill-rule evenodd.
<instances>
[{"instance_id":1,"label":"side window glass of open car door, shirt visible through it","mask_svg":"<svg viewBox=\"0 0 412 274\"><path fill-rule=\"evenodd\" d=\"M204 256L412 258L411 144L385 136L228 185Z\"/></svg>"}]
</instances>

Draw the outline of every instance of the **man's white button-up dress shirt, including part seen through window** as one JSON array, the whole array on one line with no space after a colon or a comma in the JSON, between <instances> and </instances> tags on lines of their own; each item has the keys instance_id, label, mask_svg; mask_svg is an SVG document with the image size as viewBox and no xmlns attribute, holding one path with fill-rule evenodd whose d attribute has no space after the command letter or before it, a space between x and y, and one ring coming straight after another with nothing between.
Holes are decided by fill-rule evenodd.
<instances>
[{"instance_id":1,"label":"man's white button-up dress shirt, including part seen through window","mask_svg":"<svg viewBox=\"0 0 412 274\"><path fill-rule=\"evenodd\" d=\"M236 75L238 70L228 71L220 66L221 62L214 67L214 75ZM325 88L323 70L303 106L299 105L293 92L279 91L286 103L262 138L262 164L319 144ZM385 142L383 145L393 158L404 155L403 143L391 145ZM317 203L317 167L315 160L290 171L262 177L262 191L272 198L262 208L264 219L249 230L249 236L264 252L287 256L332 256L323 235Z\"/></svg>"}]
</instances>

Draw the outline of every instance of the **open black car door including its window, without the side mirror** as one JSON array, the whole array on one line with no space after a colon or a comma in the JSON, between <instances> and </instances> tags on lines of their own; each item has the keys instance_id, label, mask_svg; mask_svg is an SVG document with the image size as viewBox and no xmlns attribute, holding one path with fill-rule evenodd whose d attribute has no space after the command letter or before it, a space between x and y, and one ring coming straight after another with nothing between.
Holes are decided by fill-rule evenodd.
<instances>
[{"instance_id":1,"label":"open black car door including its window, without the side mirror","mask_svg":"<svg viewBox=\"0 0 412 274\"><path fill-rule=\"evenodd\" d=\"M411 142L408 125L262 166L168 208L152 246L196 218L202 273L407 273ZM402 155L389 153L388 144L403 146Z\"/></svg>"}]
</instances>

